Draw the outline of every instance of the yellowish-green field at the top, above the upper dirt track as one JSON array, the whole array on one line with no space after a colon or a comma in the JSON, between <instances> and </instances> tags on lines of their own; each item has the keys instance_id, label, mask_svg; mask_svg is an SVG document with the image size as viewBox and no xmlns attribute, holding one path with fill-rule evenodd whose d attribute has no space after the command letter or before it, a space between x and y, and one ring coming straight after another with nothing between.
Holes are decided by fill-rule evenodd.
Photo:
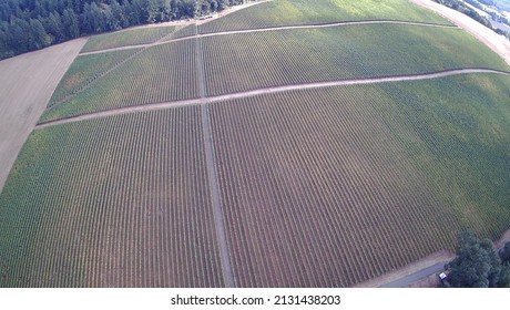
<instances>
[{"instance_id":1,"label":"yellowish-green field at the top, above the upper dirt track","mask_svg":"<svg viewBox=\"0 0 510 310\"><path fill-rule=\"evenodd\" d=\"M207 22L200 27L200 32L358 20L402 20L451 24L438 14L412 6L407 0L273 0Z\"/></svg>"}]
</instances>

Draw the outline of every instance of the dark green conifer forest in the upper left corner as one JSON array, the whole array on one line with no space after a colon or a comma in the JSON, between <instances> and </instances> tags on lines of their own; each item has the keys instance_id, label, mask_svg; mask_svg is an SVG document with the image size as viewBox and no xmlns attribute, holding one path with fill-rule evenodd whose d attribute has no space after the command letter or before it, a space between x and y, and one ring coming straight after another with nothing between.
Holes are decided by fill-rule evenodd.
<instances>
[{"instance_id":1,"label":"dark green conifer forest in the upper left corner","mask_svg":"<svg viewBox=\"0 0 510 310\"><path fill-rule=\"evenodd\" d=\"M246 0L1 0L0 60L82 35L195 18Z\"/></svg>"}]
</instances>

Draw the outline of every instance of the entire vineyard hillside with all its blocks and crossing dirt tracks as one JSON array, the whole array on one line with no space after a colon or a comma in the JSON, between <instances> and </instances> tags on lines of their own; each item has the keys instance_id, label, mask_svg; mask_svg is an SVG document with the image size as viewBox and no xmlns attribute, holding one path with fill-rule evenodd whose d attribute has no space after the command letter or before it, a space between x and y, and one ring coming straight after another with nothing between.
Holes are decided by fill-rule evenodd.
<instances>
[{"instance_id":1,"label":"entire vineyard hillside with all its blocks and crossing dirt tracks","mask_svg":"<svg viewBox=\"0 0 510 310\"><path fill-rule=\"evenodd\" d=\"M198 34L364 19L445 25ZM416 74L510 68L407 0L274 0L83 51L0 193L0 287L351 287L509 229L510 73Z\"/></svg>"}]
</instances>

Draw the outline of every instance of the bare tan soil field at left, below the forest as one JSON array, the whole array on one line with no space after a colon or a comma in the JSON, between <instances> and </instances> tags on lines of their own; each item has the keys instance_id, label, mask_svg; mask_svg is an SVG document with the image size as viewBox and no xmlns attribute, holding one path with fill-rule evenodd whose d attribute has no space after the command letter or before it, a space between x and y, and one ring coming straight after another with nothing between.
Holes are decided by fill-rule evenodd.
<instances>
[{"instance_id":1,"label":"bare tan soil field at left, below the forest","mask_svg":"<svg viewBox=\"0 0 510 310\"><path fill-rule=\"evenodd\" d=\"M86 39L0 61L0 192L27 137Z\"/></svg>"}]
</instances>

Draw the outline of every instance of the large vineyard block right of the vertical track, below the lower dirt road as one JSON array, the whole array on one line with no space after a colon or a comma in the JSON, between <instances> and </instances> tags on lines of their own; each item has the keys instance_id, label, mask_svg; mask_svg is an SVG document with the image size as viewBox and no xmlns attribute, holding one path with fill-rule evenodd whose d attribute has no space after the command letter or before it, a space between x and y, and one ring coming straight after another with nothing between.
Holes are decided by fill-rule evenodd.
<instances>
[{"instance_id":1,"label":"large vineyard block right of the vertical track, below the lower dirt road","mask_svg":"<svg viewBox=\"0 0 510 310\"><path fill-rule=\"evenodd\" d=\"M452 248L467 227L499 237L508 90L508 78L469 76L213 105L237 285L351 286Z\"/></svg>"}]
</instances>

